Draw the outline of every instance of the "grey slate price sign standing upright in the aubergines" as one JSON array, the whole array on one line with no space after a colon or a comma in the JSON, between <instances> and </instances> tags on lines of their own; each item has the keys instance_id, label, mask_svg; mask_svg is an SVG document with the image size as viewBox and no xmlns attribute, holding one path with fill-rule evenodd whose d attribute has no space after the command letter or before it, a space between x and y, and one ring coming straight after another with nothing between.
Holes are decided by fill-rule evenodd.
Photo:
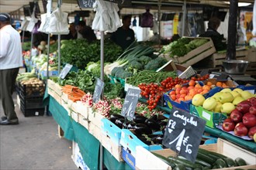
<instances>
[{"instance_id":1,"label":"grey slate price sign standing upright in the aubergines","mask_svg":"<svg viewBox=\"0 0 256 170\"><path fill-rule=\"evenodd\" d=\"M121 110L121 114L123 117L127 117L128 120L133 120L134 117L134 111L137 107L137 103L140 97L140 89L135 88L129 88L126 93L126 97L123 102L123 107Z\"/></svg>"}]
</instances>

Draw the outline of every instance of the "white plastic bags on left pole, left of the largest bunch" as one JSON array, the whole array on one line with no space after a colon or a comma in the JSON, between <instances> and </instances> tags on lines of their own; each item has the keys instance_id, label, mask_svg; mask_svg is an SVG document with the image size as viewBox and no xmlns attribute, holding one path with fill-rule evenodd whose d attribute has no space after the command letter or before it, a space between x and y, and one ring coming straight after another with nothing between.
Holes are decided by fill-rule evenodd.
<instances>
[{"instance_id":1,"label":"white plastic bags on left pole, left of the largest bunch","mask_svg":"<svg viewBox=\"0 0 256 170\"><path fill-rule=\"evenodd\" d=\"M68 34L67 15L66 12L61 12L61 8L57 8L50 14L49 26L46 31L52 34Z\"/></svg>"}]
</instances>

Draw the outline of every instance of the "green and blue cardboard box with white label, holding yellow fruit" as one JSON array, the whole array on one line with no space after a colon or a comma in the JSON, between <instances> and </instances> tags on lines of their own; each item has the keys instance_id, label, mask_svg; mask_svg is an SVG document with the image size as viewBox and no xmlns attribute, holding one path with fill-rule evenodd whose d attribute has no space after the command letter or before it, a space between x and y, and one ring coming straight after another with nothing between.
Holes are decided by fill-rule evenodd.
<instances>
[{"instance_id":1,"label":"green and blue cardboard box with white label, holding yellow fruit","mask_svg":"<svg viewBox=\"0 0 256 170\"><path fill-rule=\"evenodd\" d=\"M227 119L227 114L214 113L212 111L205 110L201 106L195 107L192 104L190 105L189 112L190 114L206 120L206 126L208 126L209 128L216 128L217 125L223 124L223 121Z\"/></svg>"}]
</instances>

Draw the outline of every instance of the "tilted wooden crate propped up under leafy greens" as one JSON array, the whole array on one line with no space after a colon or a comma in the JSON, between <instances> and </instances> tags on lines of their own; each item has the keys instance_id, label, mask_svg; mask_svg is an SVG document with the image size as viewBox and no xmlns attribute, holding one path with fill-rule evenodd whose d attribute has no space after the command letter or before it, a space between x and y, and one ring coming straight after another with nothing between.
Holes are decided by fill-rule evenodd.
<instances>
[{"instance_id":1,"label":"tilted wooden crate propped up under leafy greens","mask_svg":"<svg viewBox=\"0 0 256 170\"><path fill-rule=\"evenodd\" d=\"M211 56L216 52L212 39L202 37L199 39L209 39L209 42L206 42L202 46L193 49L185 56L174 56L173 59L175 63L182 64L183 66L192 66L193 64L198 63L202 59L205 59L207 56Z\"/></svg>"}]
</instances>

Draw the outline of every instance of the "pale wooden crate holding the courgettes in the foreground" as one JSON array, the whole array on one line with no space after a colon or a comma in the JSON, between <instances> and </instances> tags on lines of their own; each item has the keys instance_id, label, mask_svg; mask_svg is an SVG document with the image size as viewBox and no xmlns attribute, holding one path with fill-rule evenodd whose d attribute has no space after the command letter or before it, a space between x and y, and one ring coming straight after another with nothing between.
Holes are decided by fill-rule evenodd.
<instances>
[{"instance_id":1,"label":"pale wooden crate holding the courgettes in the foreground","mask_svg":"<svg viewBox=\"0 0 256 170\"><path fill-rule=\"evenodd\" d=\"M233 167L233 168L220 168L220 169L234 169L234 168L243 168L243 169L255 169L256 168L256 154L247 151L244 148L240 148L237 145L234 145L230 141L223 140L218 138L217 144L212 145L200 145L199 148L204 148L208 151L215 151L217 153L226 155L230 158L244 158L247 162L246 166ZM170 155L176 155L175 151L171 151L171 149L164 149L153 151L159 155L163 155L164 157L168 157ZM157 158L150 151L143 147L137 147L137 155L136 155L136 167L137 169L166 169L171 170L171 166L167 165L165 162L161 161L160 158ZM145 162L144 160L147 160Z\"/></svg>"}]
</instances>

